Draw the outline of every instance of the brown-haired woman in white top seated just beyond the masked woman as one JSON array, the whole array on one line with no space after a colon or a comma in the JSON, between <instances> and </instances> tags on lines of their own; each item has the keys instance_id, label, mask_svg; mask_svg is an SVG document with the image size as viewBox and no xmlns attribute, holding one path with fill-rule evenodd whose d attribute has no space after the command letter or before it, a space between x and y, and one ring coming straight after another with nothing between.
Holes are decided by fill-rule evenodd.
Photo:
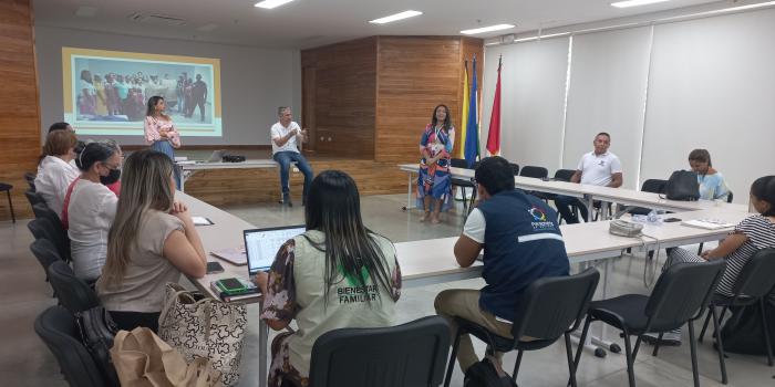
<instances>
[{"instance_id":1,"label":"brown-haired woman in white top seated just beyond the masked woman","mask_svg":"<svg viewBox=\"0 0 775 387\"><path fill-rule=\"evenodd\" d=\"M75 158L78 138L70 130L54 130L45 137L43 158L38 164L35 191L43 197L46 206L62 216L62 202L70 182L79 176L79 170L70 161Z\"/></svg>"}]
</instances>

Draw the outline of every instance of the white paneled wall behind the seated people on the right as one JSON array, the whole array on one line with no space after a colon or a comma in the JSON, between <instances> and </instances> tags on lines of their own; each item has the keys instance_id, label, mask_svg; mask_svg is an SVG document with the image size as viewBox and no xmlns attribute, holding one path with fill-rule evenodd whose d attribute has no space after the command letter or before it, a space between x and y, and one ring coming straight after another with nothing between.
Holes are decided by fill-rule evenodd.
<instances>
[{"instance_id":1,"label":"white paneled wall behind the seated people on the right","mask_svg":"<svg viewBox=\"0 0 775 387\"><path fill-rule=\"evenodd\" d=\"M536 42L487 46L483 143L497 57L503 54L506 158L546 166L550 174L555 159L575 168L581 154L592 149L595 133L606 130L612 135L611 151L622 159L626 187L636 188L645 179L666 179L673 170L689 169L689 153L707 148L735 201L747 202L753 180L775 174L773 41L775 9L765 9L657 24L653 36L652 27L578 34L566 56L557 53L554 60L528 49ZM534 77L519 65L530 62L541 63L545 72L552 69L554 77ZM569 83L558 66L567 66ZM555 93L557 83L567 85L567 94ZM518 97L507 92L515 87L528 88ZM537 105L520 115L506 114L524 109L525 98ZM559 140L556 122L537 117L566 102ZM525 125L529 130L523 129ZM526 144L541 144L541 154L526 150Z\"/></svg>"}]
</instances>

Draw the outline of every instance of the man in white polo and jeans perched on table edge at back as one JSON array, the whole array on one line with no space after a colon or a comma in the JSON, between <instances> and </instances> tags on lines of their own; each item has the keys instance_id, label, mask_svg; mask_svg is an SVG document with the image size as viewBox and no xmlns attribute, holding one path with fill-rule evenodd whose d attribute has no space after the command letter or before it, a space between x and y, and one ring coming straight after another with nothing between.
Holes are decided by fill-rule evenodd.
<instances>
[{"instance_id":1,"label":"man in white polo and jeans perched on table edge at back","mask_svg":"<svg viewBox=\"0 0 775 387\"><path fill-rule=\"evenodd\" d=\"M271 153L272 158L280 165L280 186L282 188L281 205L293 206L290 200L289 176L290 164L296 161L296 167L304 174L304 190L301 196L302 206L307 203L307 192L312 184L312 167L307 163L307 158L299 151L297 143L307 142L307 130L302 130L299 124L291 121L291 109L288 106L280 106L277 109L279 122L271 127Z\"/></svg>"}]
</instances>

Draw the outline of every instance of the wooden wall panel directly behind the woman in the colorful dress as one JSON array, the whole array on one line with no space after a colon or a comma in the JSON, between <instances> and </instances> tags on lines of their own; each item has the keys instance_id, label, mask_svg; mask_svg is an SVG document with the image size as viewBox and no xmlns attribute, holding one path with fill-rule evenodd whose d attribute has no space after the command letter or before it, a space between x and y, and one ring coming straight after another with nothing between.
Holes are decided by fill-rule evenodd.
<instances>
[{"instance_id":1,"label":"wooden wall panel directly behind the woman in the colorful dress","mask_svg":"<svg viewBox=\"0 0 775 387\"><path fill-rule=\"evenodd\" d=\"M463 54L477 45L480 51L483 41L459 36L379 36L375 160L416 161L420 136L438 104L459 126Z\"/></svg>"}]
</instances>

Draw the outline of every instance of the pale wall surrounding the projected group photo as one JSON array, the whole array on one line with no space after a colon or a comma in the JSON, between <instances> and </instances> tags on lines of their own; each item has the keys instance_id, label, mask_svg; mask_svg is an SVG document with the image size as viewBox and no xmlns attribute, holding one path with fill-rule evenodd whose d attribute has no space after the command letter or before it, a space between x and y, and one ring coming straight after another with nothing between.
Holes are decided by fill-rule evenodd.
<instances>
[{"instance_id":1,"label":"pale wall surrounding the projected group photo","mask_svg":"<svg viewBox=\"0 0 775 387\"><path fill-rule=\"evenodd\" d=\"M301 61L298 50L265 50L193 41L149 39L35 25L41 132L63 119L62 46L220 59L223 137L187 137L186 145L268 145L277 106L293 106L301 117ZM78 128L76 128L78 129ZM141 145L142 136L116 136Z\"/></svg>"}]
</instances>

